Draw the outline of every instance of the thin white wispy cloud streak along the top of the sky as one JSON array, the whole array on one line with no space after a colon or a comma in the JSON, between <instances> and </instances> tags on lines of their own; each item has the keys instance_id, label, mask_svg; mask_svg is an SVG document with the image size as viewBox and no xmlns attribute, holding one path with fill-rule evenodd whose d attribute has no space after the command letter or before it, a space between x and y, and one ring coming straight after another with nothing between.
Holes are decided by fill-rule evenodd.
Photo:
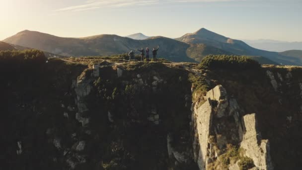
<instances>
[{"instance_id":1,"label":"thin white wispy cloud streak along the top of the sky","mask_svg":"<svg viewBox=\"0 0 302 170\"><path fill-rule=\"evenodd\" d=\"M84 11L101 7L123 7L130 5L150 5L157 3L179 3L179 2L224 2L244 0L86 0L84 4L72 5L57 9L56 11Z\"/></svg>"}]
</instances>

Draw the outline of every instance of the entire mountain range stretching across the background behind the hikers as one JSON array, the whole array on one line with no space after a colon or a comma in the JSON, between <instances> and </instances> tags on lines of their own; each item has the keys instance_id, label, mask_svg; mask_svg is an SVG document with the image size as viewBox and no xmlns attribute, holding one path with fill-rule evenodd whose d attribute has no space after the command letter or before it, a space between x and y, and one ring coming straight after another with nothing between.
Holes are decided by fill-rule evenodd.
<instances>
[{"instance_id":1,"label":"entire mountain range stretching across the background behind the hikers","mask_svg":"<svg viewBox=\"0 0 302 170\"><path fill-rule=\"evenodd\" d=\"M103 34L83 38L65 38L24 30L4 39L3 42L75 57L110 56L128 53L130 50L159 46L158 57L174 62L200 62L204 56L209 54L227 54L251 56L261 64L302 66L301 57L259 50L243 41L219 35L205 28L176 39L162 36L148 37L142 33L132 34L128 37Z\"/></svg>"}]
</instances>

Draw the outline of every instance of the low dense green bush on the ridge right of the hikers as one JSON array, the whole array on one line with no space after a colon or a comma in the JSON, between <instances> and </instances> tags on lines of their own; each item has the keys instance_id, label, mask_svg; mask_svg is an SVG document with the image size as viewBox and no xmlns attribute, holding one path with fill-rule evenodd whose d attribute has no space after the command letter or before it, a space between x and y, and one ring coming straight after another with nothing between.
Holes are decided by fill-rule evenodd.
<instances>
[{"instance_id":1,"label":"low dense green bush on the ridge right of the hikers","mask_svg":"<svg viewBox=\"0 0 302 170\"><path fill-rule=\"evenodd\" d=\"M260 64L246 56L209 55L201 61L199 68L241 71L260 68Z\"/></svg>"}]
</instances>

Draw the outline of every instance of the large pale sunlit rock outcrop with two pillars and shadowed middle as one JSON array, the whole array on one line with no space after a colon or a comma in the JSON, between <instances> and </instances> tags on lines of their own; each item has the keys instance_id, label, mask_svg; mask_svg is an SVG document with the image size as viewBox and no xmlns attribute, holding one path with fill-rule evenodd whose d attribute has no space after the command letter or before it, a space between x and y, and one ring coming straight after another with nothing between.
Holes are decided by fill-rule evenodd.
<instances>
[{"instance_id":1,"label":"large pale sunlit rock outcrop with two pillars and shadowed middle","mask_svg":"<svg viewBox=\"0 0 302 170\"><path fill-rule=\"evenodd\" d=\"M269 142L261 140L255 114L244 115L236 99L227 95L222 85L209 90L204 98L203 104L195 103L192 114L193 149L199 170L207 170L209 164L224 154L227 144L234 143L240 143L244 156L251 158L256 168L272 170ZM229 168L235 170L237 167L231 165Z\"/></svg>"}]
</instances>

